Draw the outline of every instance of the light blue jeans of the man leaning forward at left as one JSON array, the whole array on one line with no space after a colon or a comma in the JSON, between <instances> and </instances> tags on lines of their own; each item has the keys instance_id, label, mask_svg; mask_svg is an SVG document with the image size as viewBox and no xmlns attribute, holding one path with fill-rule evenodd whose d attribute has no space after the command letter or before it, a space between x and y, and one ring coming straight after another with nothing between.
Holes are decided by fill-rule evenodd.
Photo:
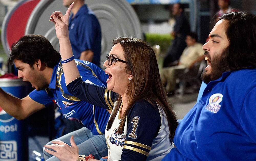
<instances>
[{"instance_id":1,"label":"light blue jeans of the man leaning forward at left","mask_svg":"<svg viewBox=\"0 0 256 161\"><path fill-rule=\"evenodd\" d=\"M106 145L105 135L92 135L91 131L85 127L68 133L64 136L61 136L55 140L61 140L71 146L71 135L74 136L74 141L77 144L77 147L79 148L80 155L88 156L89 154L92 154L93 156L95 156L95 159L100 159L108 155L108 148ZM52 144L51 141L46 145L49 144ZM44 149L43 153L45 160L59 160L57 157L47 153Z\"/></svg>"}]
</instances>

